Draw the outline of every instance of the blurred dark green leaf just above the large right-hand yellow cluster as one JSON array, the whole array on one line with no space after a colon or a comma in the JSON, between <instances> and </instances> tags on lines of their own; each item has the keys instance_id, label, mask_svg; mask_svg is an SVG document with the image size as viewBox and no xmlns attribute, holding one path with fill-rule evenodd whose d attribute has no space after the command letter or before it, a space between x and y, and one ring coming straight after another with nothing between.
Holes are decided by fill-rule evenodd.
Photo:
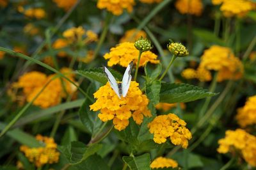
<instances>
[{"instance_id":1,"label":"blurred dark green leaf just above the large right-hand yellow cluster","mask_svg":"<svg viewBox=\"0 0 256 170\"><path fill-rule=\"evenodd\" d=\"M206 46L210 46L212 44L224 45L223 40L214 35L212 31L207 31L205 29L193 29L193 34L202 40Z\"/></svg>"}]
</instances>

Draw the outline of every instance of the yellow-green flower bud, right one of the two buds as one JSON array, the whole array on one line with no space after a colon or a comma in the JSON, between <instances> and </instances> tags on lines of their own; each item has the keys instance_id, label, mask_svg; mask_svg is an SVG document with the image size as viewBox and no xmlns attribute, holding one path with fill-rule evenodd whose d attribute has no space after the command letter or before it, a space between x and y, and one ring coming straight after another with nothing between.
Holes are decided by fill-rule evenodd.
<instances>
[{"instance_id":1,"label":"yellow-green flower bud, right one of the two buds","mask_svg":"<svg viewBox=\"0 0 256 170\"><path fill-rule=\"evenodd\" d=\"M172 52L173 55L177 56L177 57L185 57L188 56L188 50L186 49L186 47L184 45L182 45L182 43L169 43L167 45L168 50L170 50L170 52Z\"/></svg>"}]
</instances>

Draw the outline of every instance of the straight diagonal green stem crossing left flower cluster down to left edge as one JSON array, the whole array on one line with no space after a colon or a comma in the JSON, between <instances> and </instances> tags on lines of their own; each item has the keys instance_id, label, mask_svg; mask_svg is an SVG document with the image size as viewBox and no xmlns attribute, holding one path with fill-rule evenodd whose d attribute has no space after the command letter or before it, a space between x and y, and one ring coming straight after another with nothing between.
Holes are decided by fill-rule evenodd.
<instances>
[{"instance_id":1,"label":"straight diagonal green stem crossing left flower cluster down to left edge","mask_svg":"<svg viewBox=\"0 0 256 170\"><path fill-rule=\"evenodd\" d=\"M42 89L36 94L36 96L31 100L31 102L29 102L28 104L26 104L21 111L15 116L15 118L13 118L12 121L10 121L10 123L8 123L8 125L6 125L6 127L4 127L4 129L2 130L0 137L2 137L13 125L14 123L16 123L17 120L19 120L19 118L24 114L24 112L26 112L28 110L28 108L33 104L33 102L36 100L36 98L38 98L38 96L42 93L42 91L44 91L44 89L48 86L48 84L53 80L56 79L56 77L52 77L51 80L49 80L46 84L44 84L44 86L42 87Z\"/></svg>"}]
</instances>

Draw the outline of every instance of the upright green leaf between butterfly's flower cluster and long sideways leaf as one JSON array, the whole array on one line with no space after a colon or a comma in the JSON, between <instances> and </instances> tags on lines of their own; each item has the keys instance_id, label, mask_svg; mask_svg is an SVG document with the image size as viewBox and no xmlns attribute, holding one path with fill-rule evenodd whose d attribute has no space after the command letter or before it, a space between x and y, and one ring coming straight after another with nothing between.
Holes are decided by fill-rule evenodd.
<instances>
[{"instance_id":1,"label":"upright green leaf between butterfly's flower cluster and long sideways leaf","mask_svg":"<svg viewBox=\"0 0 256 170\"><path fill-rule=\"evenodd\" d=\"M159 93L161 89L161 81L154 81L150 84L146 84L146 93L152 104L156 105L159 103Z\"/></svg>"}]
</instances>

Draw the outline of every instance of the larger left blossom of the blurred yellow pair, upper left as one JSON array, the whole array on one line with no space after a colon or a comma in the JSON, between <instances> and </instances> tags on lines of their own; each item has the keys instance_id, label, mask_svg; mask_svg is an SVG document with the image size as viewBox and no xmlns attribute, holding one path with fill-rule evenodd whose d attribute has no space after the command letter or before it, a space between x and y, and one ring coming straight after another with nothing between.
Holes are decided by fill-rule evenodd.
<instances>
[{"instance_id":1,"label":"larger left blossom of the blurred yellow pair, upper left","mask_svg":"<svg viewBox=\"0 0 256 170\"><path fill-rule=\"evenodd\" d=\"M86 31L83 29L83 27L71 27L70 29L67 29L63 32L63 36L67 38L67 40L72 42L79 42L82 40L83 35L86 33Z\"/></svg>"}]
</instances>

